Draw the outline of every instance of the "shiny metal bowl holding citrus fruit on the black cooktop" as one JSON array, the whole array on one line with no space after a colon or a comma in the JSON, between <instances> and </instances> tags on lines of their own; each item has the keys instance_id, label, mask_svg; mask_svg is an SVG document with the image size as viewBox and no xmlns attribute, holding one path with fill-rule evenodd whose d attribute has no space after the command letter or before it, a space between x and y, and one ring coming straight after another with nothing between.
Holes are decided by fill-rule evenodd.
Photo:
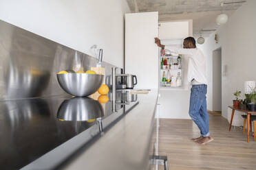
<instances>
[{"instance_id":1,"label":"shiny metal bowl holding citrus fruit on the black cooktop","mask_svg":"<svg viewBox=\"0 0 256 170\"><path fill-rule=\"evenodd\" d=\"M76 97L92 95L100 88L104 75L87 73L57 74L58 83L66 93Z\"/></svg>"}]
</instances>

